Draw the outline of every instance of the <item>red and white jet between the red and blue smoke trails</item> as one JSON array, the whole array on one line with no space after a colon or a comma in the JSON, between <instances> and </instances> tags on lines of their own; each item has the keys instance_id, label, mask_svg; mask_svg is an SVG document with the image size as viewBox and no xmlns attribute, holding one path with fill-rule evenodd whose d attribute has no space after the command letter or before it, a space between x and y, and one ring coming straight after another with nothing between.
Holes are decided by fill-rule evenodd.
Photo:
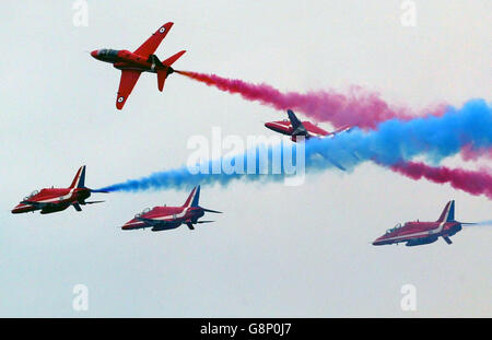
<instances>
[{"instance_id":1,"label":"red and white jet between the red and blue smoke trails","mask_svg":"<svg viewBox=\"0 0 492 340\"><path fill-rule=\"evenodd\" d=\"M291 139L294 142L297 140L297 136L303 136L305 139L312 137L335 137L337 133L349 131L350 129L352 129L351 126L344 126L333 132L328 132L317 127L313 122L298 120L292 109L288 109L288 115L289 120L270 121L266 122L265 126L276 132L291 136Z\"/></svg>"}]
</instances>

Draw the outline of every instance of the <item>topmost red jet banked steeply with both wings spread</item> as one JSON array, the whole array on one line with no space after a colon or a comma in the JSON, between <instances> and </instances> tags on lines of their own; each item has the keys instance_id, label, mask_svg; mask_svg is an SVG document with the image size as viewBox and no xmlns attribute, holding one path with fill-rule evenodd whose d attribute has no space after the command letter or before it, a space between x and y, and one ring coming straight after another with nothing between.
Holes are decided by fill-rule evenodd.
<instances>
[{"instance_id":1,"label":"topmost red jet banked steeply with both wings spread","mask_svg":"<svg viewBox=\"0 0 492 340\"><path fill-rule=\"evenodd\" d=\"M142 46L132 52L126 49L115 50L107 48L96 49L91 52L91 56L97 60L110 62L116 69L121 70L118 95L116 96L116 108L121 109L124 107L142 72L157 73L159 91L164 89L167 75L174 72L171 66L186 51L181 50L164 61L160 61L157 56L154 55L172 26L173 23L171 22L162 25Z\"/></svg>"}]
</instances>

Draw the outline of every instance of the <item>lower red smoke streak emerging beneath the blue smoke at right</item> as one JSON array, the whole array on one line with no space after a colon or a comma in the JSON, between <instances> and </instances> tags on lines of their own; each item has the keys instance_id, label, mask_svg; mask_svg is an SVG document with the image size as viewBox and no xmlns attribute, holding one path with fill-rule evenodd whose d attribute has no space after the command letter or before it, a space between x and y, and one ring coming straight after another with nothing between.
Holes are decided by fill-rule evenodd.
<instances>
[{"instance_id":1,"label":"lower red smoke streak emerging beneath the blue smoke at right","mask_svg":"<svg viewBox=\"0 0 492 340\"><path fill-rule=\"evenodd\" d=\"M412 179L423 177L438 184L448 183L455 189L476 196L485 195L489 199L492 199L492 174L488 169L467 171L445 166L432 167L418 162L400 163L391 166L391 169Z\"/></svg>"}]
</instances>

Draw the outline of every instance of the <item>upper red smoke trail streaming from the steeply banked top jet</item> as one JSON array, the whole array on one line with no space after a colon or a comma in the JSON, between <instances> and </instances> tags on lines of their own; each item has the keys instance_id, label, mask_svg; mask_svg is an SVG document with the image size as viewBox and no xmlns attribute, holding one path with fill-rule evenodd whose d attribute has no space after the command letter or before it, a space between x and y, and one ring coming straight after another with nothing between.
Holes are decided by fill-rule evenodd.
<instances>
[{"instance_id":1,"label":"upper red smoke trail streaming from the steeply banked top jet","mask_svg":"<svg viewBox=\"0 0 492 340\"><path fill-rule=\"evenodd\" d=\"M353 125L363 129L375 128L378 122L414 117L407 108L393 108L375 93L367 93L361 87L353 87L349 95L335 91L315 91L307 93L286 92L268 84L250 84L242 80L221 78L215 74L203 74L188 71L176 71L209 86L237 93L247 101L258 101L277 109L292 108L318 121L329 121L335 127ZM433 110L433 115L442 115L444 105Z\"/></svg>"}]
</instances>

